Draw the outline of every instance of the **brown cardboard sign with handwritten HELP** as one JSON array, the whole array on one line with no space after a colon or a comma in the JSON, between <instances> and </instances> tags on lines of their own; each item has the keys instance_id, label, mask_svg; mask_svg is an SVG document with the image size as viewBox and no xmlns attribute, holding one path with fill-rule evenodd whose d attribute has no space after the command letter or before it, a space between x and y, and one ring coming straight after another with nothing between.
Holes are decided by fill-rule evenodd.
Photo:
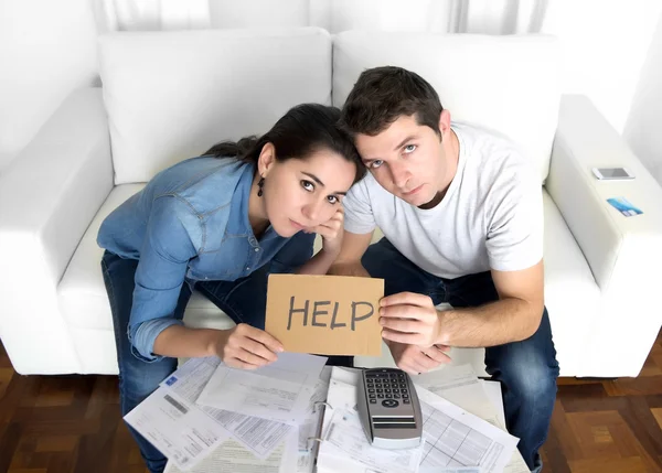
<instances>
[{"instance_id":1,"label":"brown cardboard sign with handwritten HELP","mask_svg":"<svg viewBox=\"0 0 662 473\"><path fill-rule=\"evenodd\" d=\"M383 279L269 275L265 330L287 352L380 356L383 297Z\"/></svg>"}]
</instances>

